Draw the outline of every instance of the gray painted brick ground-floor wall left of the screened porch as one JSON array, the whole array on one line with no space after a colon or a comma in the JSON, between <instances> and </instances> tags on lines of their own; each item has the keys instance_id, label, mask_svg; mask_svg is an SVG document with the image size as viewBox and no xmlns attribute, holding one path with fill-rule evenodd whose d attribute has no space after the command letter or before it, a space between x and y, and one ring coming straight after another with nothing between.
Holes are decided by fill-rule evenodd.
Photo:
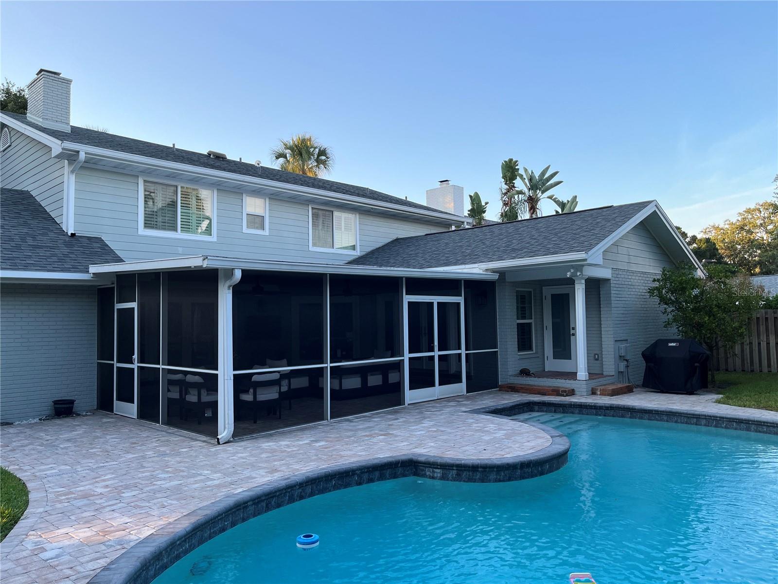
<instances>
[{"instance_id":1,"label":"gray painted brick ground-floor wall left of the screened porch","mask_svg":"<svg viewBox=\"0 0 778 584\"><path fill-rule=\"evenodd\" d=\"M93 287L3 284L2 421L54 413L58 398L95 408L96 306Z\"/></svg>"}]
</instances>

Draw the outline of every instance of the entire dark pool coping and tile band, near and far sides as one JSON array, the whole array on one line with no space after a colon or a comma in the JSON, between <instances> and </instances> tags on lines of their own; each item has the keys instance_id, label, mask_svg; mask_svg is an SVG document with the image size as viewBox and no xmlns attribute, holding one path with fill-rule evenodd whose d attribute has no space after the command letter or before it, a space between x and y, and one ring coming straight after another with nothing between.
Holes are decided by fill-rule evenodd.
<instances>
[{"instance_id":1,"label":"entire dark pool coping and tile band, near and far sides","mask_svg":"<svg viewBox=\"0 0 778 584\"><path fill-rule=\"evenodd\" d=\"M466 411L503 418L527 412L573 413L778 434L778 422L748 414L624 403L525 398ZM110 561L89 580L89 584L149 584L176 561L227 529L318 494L405 477L480 483L524 480L552 473L566 465L570 443L562 432L531 420L521 420L521 423L544 431L551 438L551 444L530 454L492 459L413 453L384 456L271 480L203 505L159 528Z\"/></svg>"}]
</instances>

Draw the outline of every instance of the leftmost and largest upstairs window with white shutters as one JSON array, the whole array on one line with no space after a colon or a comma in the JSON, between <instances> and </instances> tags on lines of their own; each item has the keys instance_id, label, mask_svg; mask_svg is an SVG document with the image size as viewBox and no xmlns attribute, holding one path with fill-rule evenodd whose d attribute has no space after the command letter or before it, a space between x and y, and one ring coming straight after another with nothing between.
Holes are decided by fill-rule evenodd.
<instances>
[{"instance_id":1,"label":"leftmost and largest upstairs window with white shutters","mask_svg":"<svg viewBox=\"0 0 778 584\"><path fill-rule=\"evenodd\" d=\"M144 180L142 195L142 231L213 237L211 189Z\"/></svg>"}]
</instances>

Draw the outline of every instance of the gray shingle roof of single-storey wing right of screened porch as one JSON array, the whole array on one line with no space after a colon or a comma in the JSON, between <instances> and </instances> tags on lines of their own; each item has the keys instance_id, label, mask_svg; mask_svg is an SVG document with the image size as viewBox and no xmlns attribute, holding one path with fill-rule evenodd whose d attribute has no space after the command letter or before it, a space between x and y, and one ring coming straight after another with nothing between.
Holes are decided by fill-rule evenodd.
<instances>
[{"instance_id":1,"label":"gray shingle roof of single-storey wing right of screened porch","mask_svg":"<svg viewBox=\"0 0 778 584\"><path fill-rule=\"evenodd\" d=\"M440 268L589 252L653 201L401 237L349 264Z\"/></svg>"}]
</instances>

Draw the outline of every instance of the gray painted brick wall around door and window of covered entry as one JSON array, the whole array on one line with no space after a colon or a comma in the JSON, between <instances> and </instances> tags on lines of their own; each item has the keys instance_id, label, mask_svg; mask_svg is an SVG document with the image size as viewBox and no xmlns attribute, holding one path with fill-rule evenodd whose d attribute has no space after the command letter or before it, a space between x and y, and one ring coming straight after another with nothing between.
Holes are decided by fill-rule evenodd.
<instances>
[{"instance_id":1,"label":"gray painted brick wall around door and window of covered entry","mask_svg":"<svg viewBox=\"0 0 778 584\"><path fill-rule=\"evenodd\" d=\"M543 330L543 287L573 286L572 280L532 280L527 282L506 282L500 276L497 282L498 335L499 335L499 379L500 383L510 381L520 368L531 371L545 370L545 342ZM603 334L601 325L601 280L586 282L587 309L587 366L590 373L603 372ZM534 351L518 354L516 339L516 290L528 289L533 294ZM594 354L600 357L594 361Z\"/></svg>"}]
</instances>

